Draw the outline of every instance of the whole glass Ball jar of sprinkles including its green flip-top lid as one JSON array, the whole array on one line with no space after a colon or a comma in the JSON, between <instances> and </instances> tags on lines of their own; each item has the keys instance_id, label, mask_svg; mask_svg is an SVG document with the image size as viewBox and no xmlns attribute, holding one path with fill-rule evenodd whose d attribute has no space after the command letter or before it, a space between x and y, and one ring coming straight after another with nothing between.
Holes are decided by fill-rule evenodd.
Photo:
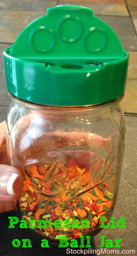
<instances>
[{"instance_id":1,"label":"whole glass Ball jar of sprinkles including its green flip-top lid","mask_svg":"<svg viewBox=\"0 0 137 256\"><path fill-rule=\"evenodd\" d=\"M105 22L74 5L50 8L4 50L9 164L24 176L17 208L51 243L94 235L111 218L128 58Z\"/></svg>"}]
</instances>

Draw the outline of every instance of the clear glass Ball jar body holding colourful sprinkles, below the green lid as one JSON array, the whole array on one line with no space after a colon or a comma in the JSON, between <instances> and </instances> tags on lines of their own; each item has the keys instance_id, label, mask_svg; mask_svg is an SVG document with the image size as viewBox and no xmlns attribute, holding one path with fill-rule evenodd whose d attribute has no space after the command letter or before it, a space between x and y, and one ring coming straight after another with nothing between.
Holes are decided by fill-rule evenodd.
<instances>
[{"instance_id":1,"label":"clear glass Ball jar body holding colourful sprinkles, below the green lid","mask_svg":"<svg viewBox=\"0 0 137 256\"><path fill-rule=\"evenodd\" d=\"M36 220L31 230L51 243L59 235L92 236L101 230L101 216L105 224L111 218L124 152L122 97L101 105L55 107L11 96L9 163L24 176L17 208L28 226ZM44 227L45 220L52 228ZM54 226L56 220L60 227ZM66 220L70 227L64 227ZM76 220L78 226L72 228Z\"/></svg>"}]
</instances>

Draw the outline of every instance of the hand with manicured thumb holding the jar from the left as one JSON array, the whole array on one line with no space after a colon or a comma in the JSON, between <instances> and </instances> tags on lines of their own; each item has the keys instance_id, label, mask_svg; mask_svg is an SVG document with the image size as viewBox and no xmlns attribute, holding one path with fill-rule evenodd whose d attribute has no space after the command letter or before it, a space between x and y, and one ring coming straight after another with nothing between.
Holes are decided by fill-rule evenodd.
<instances>
[{"instance_id":1,"label":"hand with manicured thumb holding the jar from the left","mask_svg":"<svg viewBox=\"0 0 137 256\"><path fill-rule=\"evenodd\" d=\"M22 189L21 172L8 163L4 121L0 123L0 213L13 210L13 200L20 196Z\"/></svg>"}]
</instances>

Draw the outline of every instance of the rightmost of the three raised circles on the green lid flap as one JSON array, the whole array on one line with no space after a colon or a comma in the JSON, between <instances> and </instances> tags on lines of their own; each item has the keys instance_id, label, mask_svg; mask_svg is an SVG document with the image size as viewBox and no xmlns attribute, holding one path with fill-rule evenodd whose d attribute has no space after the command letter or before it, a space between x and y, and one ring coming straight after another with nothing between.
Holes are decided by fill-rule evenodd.
<instances>
[{"instance_id":1,"label":"rightmost of the three raised circles on the green lid flap","mask_svg":"<svg viewBox=\"0 0 137 256\"><path fill-rule=\"evenodd\" d=\"M85 47L90 52L99 52L107 44L107 34L101 27L91 27L85 35Z\"/></svg>"}]
</instances>

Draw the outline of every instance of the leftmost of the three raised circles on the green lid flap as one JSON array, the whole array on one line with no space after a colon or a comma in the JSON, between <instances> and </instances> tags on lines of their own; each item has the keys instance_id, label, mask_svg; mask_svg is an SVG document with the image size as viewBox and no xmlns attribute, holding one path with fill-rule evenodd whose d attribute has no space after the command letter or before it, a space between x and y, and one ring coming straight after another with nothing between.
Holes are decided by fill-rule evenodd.
<instances>
[{"instance_id":1,"label":"leftmost of the three raised circles on the green lid flap","mask_svg":"<svg viewBox=\"0 0 137 256\"><path fill-rule=\"evenodd\" d=\"M48 52L55 45L55 37L52 29L48 29L45 26L40 26L32 30L29 41L35 50L40 52Z\"/></svg>"}]
</instances>

